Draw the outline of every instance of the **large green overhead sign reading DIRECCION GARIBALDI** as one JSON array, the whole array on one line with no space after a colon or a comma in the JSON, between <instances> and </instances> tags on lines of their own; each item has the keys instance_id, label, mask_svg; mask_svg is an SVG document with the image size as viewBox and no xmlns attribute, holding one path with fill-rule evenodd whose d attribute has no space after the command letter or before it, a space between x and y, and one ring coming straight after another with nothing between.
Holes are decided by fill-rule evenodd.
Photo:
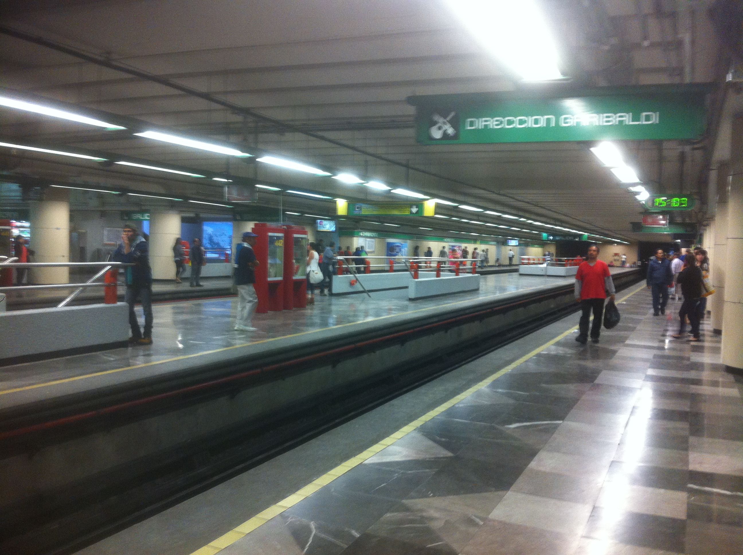
<instances>
[{"instance_id":1,"label":"large green overhead sign reading DIRECCION GARIBALDI","mask_svg":"<svg viewBox=\"0 0 743 555\"><path fill-rule=\"evenodd\" d=\"M568 97L445 94L410 97L424 145L698 139L707 88L591 89Z\"/></svg>"}]
</instances>

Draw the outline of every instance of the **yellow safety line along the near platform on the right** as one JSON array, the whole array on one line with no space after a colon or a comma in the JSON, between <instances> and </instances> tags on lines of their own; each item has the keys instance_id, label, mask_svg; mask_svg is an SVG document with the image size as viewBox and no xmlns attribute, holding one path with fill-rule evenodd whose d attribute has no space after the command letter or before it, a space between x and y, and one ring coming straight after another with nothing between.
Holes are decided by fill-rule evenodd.
<instances>
[{"instance_id":1,"label":"yellow safety line along the near platform on the right","mask_svg":"<svg viewBox=\"0 0 743 555\"><path fill-rule=\"evenodd\" d=\"M645 288L645 284L643 283L643 285L636 288L635 291L632 291L632 293L629 293L628 295L623 296L621 299L619 299L619 302L622 302L625 299L629 299L630 296L637 293L637 291L642 291L644 288ZM339 464L334 469L328 470L327 473L323 474L316 480L311 481L305 487L302 487L301 490L297 490L295 493L292 493L291 496L288 496L287 498L282 499L278 503L271 505L267 509L262 510L256 516L253 516L253 518L247 519L241 525L237 526L236 528L233 528L232 530L230 530L223 536L219 536L217 539L212 540L212 542L209 542L209 544L204 545L203 548L197 549L191 555L213 555L223 550L224 548L227 548L229 545L232 545L237 540L241 539L244 536L247 536L248 533L252 532L256 528L259 528L259 526L264 525L270 519L273 519L274 516L277 516L283 513L288 508L302 501L302 499L305 499L308 496L311 496L317 490L330 484L331 481L334 481L335 478L338 478L339 476L343 476L343 474L347 473L348 470L351 470L352 468L357 467L359 464L363 463L363 461L366 461L367 458L370 458L376 455L378 452L380 452L385 447L389 447L390 445L394 444L396 441L398 441L398 439L404 438L410 432L418 428L418 426L423 425L424 423L428 422L435 416L440 415L441 412L444 412L446 409L449 409L450 407L454 406L459 401L465 399L466 397L469 397L470 395L479 391L485 386L490 385L490 383L493 383L493 381L497 380L503 374L506 374L507 372L510 372L511 370L516 368L516 366L519 366L525 363L531 357L533 357L536 354L541 353L542 351L545 350L545 348L548 348L551 345L554 345L559 340L561 340L563 337L570 335L577 328L578 326L574 325L568 331L563 331L562 334L559 334L557 337L554 337L553 339L549 340L544 345L541 345L535 348L530 353L525 354L523 357L519 358L519 360L513 361L513 363L510 363L505 368L500 369L495 374L492 374L490 377L486 377L484 380L476 383L474 386L470 387L470 389L467 389L464 392L461 392L456 397L452 397L450 400L447 400L446 403L443 403L437 406L435 409L432 409L429 412L426 412L425 415L421 416L420 418L415 419L414 421L409 423L407 426L403 426L402 428L398 429L398 431L395 432L394 434L388 435L383 440L377 442L377 444L374 444L371 447L364 449L362 452L360 452L355 457L351 457L348 459L348 461L345 461Z\"/></svg>"}]
</instances>

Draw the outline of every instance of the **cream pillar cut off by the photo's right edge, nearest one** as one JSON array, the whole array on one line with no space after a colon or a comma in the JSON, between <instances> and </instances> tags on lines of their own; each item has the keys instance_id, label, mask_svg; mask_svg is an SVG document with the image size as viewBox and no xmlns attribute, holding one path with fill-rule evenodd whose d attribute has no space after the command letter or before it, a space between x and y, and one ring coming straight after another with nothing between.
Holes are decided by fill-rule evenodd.
<instances>
[{"instance_id":1,"label":"cream pillar cut off by the photo's right edge, nearest one","mask_svg":"<svg viewBox=\"0 0 743 555\"><path fill-rule=\"evenodd\" d=\"M722 363L733 369L743 369L743 116L733 120L729 184Z\"/></svg>"}]
</instances>

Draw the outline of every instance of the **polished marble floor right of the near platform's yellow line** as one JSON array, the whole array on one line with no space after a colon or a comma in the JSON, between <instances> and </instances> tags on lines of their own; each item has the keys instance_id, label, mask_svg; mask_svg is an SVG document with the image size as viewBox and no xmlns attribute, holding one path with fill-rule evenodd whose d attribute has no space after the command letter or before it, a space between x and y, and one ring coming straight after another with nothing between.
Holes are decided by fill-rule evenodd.
<instances>
[{"instance_id":1,"label":"polished marble floor right of the near platform's yellow line","mask_svg":"<svg viewBox=\"0 0 743 555\"><path fill-rule=\"evenodd\" d=\"M568 334L199 553L743 553L743 380L708 322L703 343L673 340L678 305L649 306L642 289L600 344Z\"/></svg>"}]
</instances>

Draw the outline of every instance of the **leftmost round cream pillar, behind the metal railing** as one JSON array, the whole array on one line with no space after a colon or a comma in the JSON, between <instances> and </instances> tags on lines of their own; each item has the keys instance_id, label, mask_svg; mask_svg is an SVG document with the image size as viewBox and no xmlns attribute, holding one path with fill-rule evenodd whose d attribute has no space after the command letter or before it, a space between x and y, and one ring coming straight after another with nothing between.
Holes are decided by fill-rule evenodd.
<instances>
[{"instance_id":1,"label":"leftmost round cream pillar, behind the metal railing","mask_svg":"<svg viewBox=\"0 0 743 555\"><path fill-rule=\"evenodd\" d=\"M30 202L31 262L70 262L70 194L48 187L43 200ZM38 285L69 283L68 267L34 268L28 282Z\"/></svg>"}]
</instances>

